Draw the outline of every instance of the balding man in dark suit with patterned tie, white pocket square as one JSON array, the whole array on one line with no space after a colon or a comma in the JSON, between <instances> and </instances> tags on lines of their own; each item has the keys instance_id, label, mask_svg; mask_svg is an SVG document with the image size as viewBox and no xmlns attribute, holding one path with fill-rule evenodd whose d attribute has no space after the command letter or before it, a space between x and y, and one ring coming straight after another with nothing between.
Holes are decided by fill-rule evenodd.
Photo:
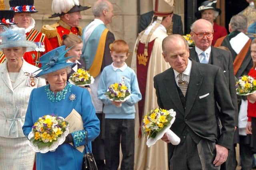
<instances>
[{"instance_id":1,"label":"balding man in dark suit with patterned tie, white pocket square","mask_svg":"<svg viewBox=\"0 0 256 170\"><path fill-rule=\"evenodd\" d=\"M166 37L162 48L171 68L154 77L154 88L159 107L176 111L171 129L181 138L179 145L169 144L170 169L218 170L234 137L234 107L223 70L188 59L180 35ZM162 140L170 143L167 134Z\"/></svg>"}]
</instances>

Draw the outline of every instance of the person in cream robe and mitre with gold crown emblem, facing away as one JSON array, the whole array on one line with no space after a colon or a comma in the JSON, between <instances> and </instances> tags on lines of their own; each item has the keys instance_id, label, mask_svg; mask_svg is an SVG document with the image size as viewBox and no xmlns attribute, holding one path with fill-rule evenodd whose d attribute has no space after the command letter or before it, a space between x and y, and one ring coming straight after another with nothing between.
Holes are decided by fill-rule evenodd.
<instances>
[{"instance_id":1,"label":"person in cream robe and mitre with gold crown emblem, facing away","mask_svg":"<svg viewBox=\"0 0 256 170\"><path fill-rule=\"evenodd\" d=\"M167 144L157 141L154 146L148 148L146 138L142 137L141 122L152 108L158 107L153 77L160 72L170 68L170 65L162 57L162 40L168 36L167 29L172 24L174 0L154 0L153 23L144 31L139 33L134 45L131 68L135 71L142 100L138 102L138 117L135 118L135 169L168 169ZM137 135L138 134L138 135ZM138 148L136 148L138 147ZM140 156L141 154L146 156ZM150 155L154 153L154 158Z\"/></svg>"}]
</instances>

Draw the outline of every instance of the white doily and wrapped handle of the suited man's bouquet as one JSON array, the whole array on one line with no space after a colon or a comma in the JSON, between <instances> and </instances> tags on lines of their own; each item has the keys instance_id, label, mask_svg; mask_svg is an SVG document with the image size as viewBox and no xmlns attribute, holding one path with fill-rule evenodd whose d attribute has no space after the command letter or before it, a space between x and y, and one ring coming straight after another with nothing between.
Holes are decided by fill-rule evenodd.
<instances>
[{"instance_id":1,"label":"white doily and wrapped handle of the suited man's bouquet","mask_svg":"<svg viewBox=\"0 0 256 170\"><path fill-rule=\"evenodd\" d=\"M148 136L148 140L146 143L148 147L150 147L151 145L154 145L156 143L156 141L161 139L164 136L164 133L167 133L168 139L169 139L169 141L171 141L172 145L178 145L180 143L180 138L173 131L170 130L172 123L174 123L175 115L176 115L176 112L171 114L171 116L173 116L173 118L172 118L170 124L168 126L164 127L161 131L159 131L157 133L156 137L151 138Z\"/></svg>"}]
</instances>

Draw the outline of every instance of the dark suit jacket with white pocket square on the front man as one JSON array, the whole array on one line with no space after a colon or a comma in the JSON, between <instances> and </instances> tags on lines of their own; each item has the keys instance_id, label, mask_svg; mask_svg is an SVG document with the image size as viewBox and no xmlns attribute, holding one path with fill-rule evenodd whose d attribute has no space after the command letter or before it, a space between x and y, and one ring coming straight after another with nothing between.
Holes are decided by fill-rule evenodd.
<instances>
[{"instance_id":1,"label":"dark suit jacket with white pocket square on the front man","mask_svg":"<svg viewBox=\"0 0 256 170\"><path fill-rule=\"evenodd\" d=\"M214 141L228 149L233 148L234 107L220 67L192 60L185 109L180 101L173 68L154 77L154 88L158 106L176 111L176 119L171 129L181 138L181 142L184 141L182 136L186 133L184 129L188 126L201 138ZM217 116L223 126L221 135ZM174 147L170 145L171 154Z\"/></svg>"}]
</instances>

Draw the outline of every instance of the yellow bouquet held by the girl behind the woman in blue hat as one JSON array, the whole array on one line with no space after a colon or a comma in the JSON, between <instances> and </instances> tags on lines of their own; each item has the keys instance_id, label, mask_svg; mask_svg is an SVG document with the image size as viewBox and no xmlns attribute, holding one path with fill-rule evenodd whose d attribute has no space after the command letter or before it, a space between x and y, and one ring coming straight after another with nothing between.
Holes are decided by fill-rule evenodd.
<instances>
[{"instance_id":1,"label":"yellow bouquet held by the girl behind the woman in blue hat","mask_svg":"<svg viewBox=\"0 0 256 170\"><path fill-rule=\"evenodd\" d=\"M78 68L77 72L74 72L69 77L69 82L76 86L86 86L94 82L94 78L89 74L89 71L83 68Z\"/></svg>"}]
</instances>

